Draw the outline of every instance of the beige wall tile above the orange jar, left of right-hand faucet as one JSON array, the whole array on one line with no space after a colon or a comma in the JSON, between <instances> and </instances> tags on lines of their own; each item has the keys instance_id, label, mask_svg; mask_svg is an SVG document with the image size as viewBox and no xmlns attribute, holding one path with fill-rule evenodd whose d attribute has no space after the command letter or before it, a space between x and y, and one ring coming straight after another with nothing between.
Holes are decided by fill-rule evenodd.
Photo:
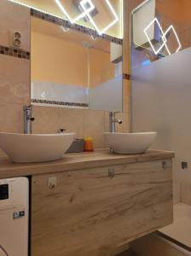
<instances>
[{"instance_id":1,"label":"beige wall tile above the orange jar, left of right-hand faucet","mask_svg":"<svg viewBox=\"0 0 191 256\"><path fill-rule=\"evenodd\" d=\"M104 147L105 112L84 110L84 137L93 137L95 147Z\"/></svg>"}]
</instances>

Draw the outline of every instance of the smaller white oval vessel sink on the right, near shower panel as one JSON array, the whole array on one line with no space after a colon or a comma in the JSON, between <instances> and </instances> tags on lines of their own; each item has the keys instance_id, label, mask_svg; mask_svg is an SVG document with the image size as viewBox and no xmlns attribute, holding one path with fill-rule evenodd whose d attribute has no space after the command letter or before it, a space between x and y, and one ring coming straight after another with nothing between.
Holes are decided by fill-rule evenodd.
<instances>
[{"instance_id":1,"label":"smaller white oval vessel sink on the right, near shower panel","mask_svg":"<svg viewBox=\"0 0 191 256\"><path fill-rule=\"evenodd\" d=\"M117 154L141 154L151 146L157 132L117 133L103 132L107 146Z\"/></svg>"}]
</instances>

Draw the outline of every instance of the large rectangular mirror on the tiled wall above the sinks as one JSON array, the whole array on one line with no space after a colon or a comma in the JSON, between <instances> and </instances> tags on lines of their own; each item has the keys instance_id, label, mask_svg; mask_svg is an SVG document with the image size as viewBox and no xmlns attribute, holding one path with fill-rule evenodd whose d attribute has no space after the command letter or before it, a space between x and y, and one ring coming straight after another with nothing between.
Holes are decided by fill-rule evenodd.
<instances>
[{"instance_id":1,"label":"large rectangular mirror on the tiled wall above the sinks","mask_svg":"<svg viewBox=\"0 0 191 256\"><path fill-rule=\"evenodd\" d=\"M32 104L122 111L122 45L32 17Z\"/></svg>"}]
</instances>

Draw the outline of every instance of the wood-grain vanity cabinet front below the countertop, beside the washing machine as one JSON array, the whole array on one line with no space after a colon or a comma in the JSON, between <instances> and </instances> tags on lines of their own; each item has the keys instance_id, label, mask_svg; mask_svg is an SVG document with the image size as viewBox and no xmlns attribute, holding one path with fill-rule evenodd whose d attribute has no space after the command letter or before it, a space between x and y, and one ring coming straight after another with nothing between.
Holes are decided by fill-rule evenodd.
<instances>
[{"instance_id":1,"label":"wood-grain vanity cabinet front below the countertop, beside the washing machine","mask_svg":"<svg viewBox=\"0 0 191 256\"><path fill-rule=\"evenodd\" d=\"M156 160L33 176L32 256L115 255L171 224L171 171Z\"/></svg>"}]
</instances>

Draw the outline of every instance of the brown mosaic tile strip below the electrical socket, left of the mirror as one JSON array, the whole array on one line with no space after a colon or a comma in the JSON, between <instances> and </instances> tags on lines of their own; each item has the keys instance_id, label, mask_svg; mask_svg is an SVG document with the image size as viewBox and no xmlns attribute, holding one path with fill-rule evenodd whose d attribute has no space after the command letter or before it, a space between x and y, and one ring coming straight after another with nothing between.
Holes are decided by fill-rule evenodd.
<instances>
[{"instance_id":1,"label":"brown mosaic tile strip below the electrical socket, left of the mirror","mask_svg":"<svg viewBox=\"0 0 191 256\"><path fill-rule=\"evenodd\" d=\"M23 49L7 47L0 45L0 54L1 55L9 55L20 59L30 60L31 55L30 52L25 51Z\"/></svg>"}]
</instances>

